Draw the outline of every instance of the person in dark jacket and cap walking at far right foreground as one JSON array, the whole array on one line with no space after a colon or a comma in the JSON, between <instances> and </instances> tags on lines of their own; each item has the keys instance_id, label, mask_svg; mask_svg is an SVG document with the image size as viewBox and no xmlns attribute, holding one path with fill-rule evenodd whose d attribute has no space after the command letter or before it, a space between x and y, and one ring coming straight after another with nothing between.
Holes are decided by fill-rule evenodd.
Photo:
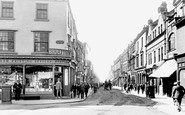
<instances>
[{"instance_id":1,"label":"person in dark jacket and cap walking at far right foreground","mask_svg":"<svg viewBox=\"0 0 185 115\"><path fill-rule=\"evenodd\" d=\"M180 85L180 81L177 81L177 86L174 87L174 90L172 92L173 97L175 98L175 101L177 103L177 110L181 111L181 101L185 94L185 89L182 85Z\"/></svg>"}]
</instances>

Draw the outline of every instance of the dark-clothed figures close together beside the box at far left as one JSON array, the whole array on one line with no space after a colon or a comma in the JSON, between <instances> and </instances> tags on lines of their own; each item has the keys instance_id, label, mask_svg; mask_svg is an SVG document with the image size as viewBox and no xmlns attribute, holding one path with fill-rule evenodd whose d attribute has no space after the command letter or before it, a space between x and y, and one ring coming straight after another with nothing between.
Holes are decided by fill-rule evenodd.
<instances>
[{"instance_id":1,"label":"dark-clothed figures close together beside the box at far left","mask_svg":"<svg viewBox=\"0 0 185 115\"><path fill-rule=\"evenodd\" d=\"M13 85L13 91L15 93L15 100L16 101L20 100L21 91L22 91L22 84L20 83L19 80L14 83L14 85Z\"/></svg>"}]
</instances>

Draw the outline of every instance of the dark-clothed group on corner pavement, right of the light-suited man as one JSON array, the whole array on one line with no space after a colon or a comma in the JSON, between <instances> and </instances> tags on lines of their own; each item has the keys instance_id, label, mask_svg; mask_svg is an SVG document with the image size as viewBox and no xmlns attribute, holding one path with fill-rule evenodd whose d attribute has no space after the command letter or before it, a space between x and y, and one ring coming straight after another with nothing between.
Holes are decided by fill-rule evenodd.
<instances>
[{"instance_id":1,"label":"dark-clothed group on corner pavement, right of the light-suited man","mask_svg":"<svg viewBox=\"0 0 185 115\"><path fill-rule=\"evenodd\" d=\"M71 86L71 98L80 98L83 99L87 97L90 85L88 83L81 83L81 84L73 84Z\"/></svg>"}]
</instances>

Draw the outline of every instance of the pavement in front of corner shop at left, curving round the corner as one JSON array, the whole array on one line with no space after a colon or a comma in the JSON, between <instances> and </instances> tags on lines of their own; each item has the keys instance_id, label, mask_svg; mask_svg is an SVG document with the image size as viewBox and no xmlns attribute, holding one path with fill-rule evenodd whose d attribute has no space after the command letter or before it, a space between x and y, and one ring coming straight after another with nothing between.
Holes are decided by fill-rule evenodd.
<instances>
[{"instance_id":1,"label":"pavement in front of corner shop at left, curving round the corner","mask_svg":"<svg viewBox=\"0 0 185 115\"><path fill-rule=\"evenodd\" d=\"M89 89L88 96L93 93L92 89ZM84 99L81 98L59 98L59 99L41 99L41 100L20 100L15 101L12 100L12 104L0 104L0 109L2 106L5 105L44 105L44 104L60 104L60 103L75 103L75 102L81 102L84 101Z\"/></svg>"}]
</instances>

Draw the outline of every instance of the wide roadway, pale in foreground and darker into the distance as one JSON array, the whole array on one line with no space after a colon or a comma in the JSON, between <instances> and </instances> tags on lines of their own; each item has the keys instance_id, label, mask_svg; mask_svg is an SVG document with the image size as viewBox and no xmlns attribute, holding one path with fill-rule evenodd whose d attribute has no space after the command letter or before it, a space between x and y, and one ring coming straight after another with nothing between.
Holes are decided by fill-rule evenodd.
<instances>
[{"instance_id":1,"label":"wide roadway, pale in foreground and darker into the distance","mask_svg":"<svg viewBox=\"0 0 185 115\"><path fill-rule=\"evenodd\" d=\"M1 115L166 115L152 108L156 102L120 90L98 92L85 101L64 104L1 105ZM3 106L3 107L2 107Z\"/></svg>"}]
</instances>

